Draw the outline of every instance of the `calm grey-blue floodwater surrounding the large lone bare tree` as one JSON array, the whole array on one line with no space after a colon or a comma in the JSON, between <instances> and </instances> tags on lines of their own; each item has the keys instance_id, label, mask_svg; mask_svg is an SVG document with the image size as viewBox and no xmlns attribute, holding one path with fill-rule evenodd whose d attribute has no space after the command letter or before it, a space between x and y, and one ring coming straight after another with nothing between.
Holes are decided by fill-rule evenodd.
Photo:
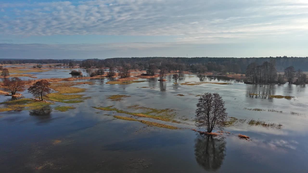
<instances>
[{"instance_id":1,"label":"calm grey-blue floodwater surrounding the large lone bare tree","mask_svg":"<svg viewBox=\"0 0 308 173\"><path fill-rule=\"evenodd\" d=\"M172 75L167 76L166 82L139 79L147 81L129 85L106 84L108 79L75 80L95 83L78 86L87 88L81 94L91 99L56 103L41 110L0 113L0 172L308 172L305 85L248 85L221 76L180 76L179 84L173 83ZM232 85L180 85L192 81ZM148 88L141 88L145 86ZM196 95L205 92L218 92L229 117L238 119L225 128L230 134L209 138L191 130L196 129ZM22 94L31 97L26 92ZM116 94L131 97L122 101L107 99ZM294 98L276 99L269 95ZM0 96L1 102L6 100L10 97ZM54 110L59 105L76 109ZM174 109L175 119L184 123L138 118L181 129L151 127L110 116L130 115L92 108L112 105L131 112L140 111L127 108L133 105ZM253 124L251 120L271 125ZM239 133L251 140L239 139Z\"/></svg>"}]
</instances>

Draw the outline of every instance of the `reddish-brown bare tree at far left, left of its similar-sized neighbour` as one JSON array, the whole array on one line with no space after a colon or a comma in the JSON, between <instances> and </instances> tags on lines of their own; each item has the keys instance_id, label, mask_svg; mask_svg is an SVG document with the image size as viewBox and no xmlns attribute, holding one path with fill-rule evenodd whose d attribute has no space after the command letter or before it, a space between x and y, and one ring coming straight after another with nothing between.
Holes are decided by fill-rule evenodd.
<instances>
[{"instance_id":1,"label":"reddish-brown bare tree at far left, left of its similar-sized neighbour","mask_svg":"<svg viewBox=\"0 0 308 173\"><path fill-rule=\"evenodd\" d=\"M17 91L25 91L25 82L20 78L14 77L11 79L4 78L4 91L10 91L12 95L15 95Z\"/></svg>"}]
</instances>

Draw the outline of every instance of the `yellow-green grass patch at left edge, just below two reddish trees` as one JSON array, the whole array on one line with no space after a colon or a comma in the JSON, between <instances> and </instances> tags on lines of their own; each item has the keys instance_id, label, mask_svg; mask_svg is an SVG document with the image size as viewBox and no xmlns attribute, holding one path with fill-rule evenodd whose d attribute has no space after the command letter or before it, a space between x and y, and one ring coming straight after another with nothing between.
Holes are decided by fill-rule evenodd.
<instances>
[{"instance_id":1,"label":"yellow-green grass patch at left edge, just below two reddish trees","mask_svg":"<svg viewBox=\"0 0 308 173\"><path fill-rule=\"evenodd\" d=\"M0 108L0 112L4 112L4 111L38 109L38 108L41 108L45 105L49 105L49 104L53 104L53 103L49 103L49 102L45 102L45 101L32 100L32 99L18 99L18 100L10 100L10 101L7 101L7 102L2 102L0 104L6 105L6 107Z\"/></svg>"}]
</instances>

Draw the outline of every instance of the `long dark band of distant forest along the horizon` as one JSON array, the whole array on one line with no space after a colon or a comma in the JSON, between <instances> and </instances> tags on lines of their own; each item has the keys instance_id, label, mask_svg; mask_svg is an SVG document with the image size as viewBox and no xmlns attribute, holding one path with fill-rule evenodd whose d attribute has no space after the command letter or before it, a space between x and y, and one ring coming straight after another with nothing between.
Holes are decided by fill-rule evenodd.
<instances>
[{"instance_id":1,"label":"long dark band of distant forest along the horizon","mask_svg":"<svg viewBox=\"0 0 308 173\"><path fill-rule=\"evenodd\" d=\"M284 71L289 66L308 71L308 57L260 57L260 58L211 58L211 57L132 57L132 58L107 58L107 59L87 59L83 61L71 59L0 59L1 64L22 64L22 63L63 63L67 65L79 64L80 67L90 68L92 66L123 66L131 64L148 68L151 64L172 68L180 68L187 71L198 71L198 67L206 68L206 71L228 71L245 74L247 66L250 63L262 64L270 62L271 59L276 61L276 70ZM179 67L180 66L180 67Z\"/></svg>"}]
</instances>

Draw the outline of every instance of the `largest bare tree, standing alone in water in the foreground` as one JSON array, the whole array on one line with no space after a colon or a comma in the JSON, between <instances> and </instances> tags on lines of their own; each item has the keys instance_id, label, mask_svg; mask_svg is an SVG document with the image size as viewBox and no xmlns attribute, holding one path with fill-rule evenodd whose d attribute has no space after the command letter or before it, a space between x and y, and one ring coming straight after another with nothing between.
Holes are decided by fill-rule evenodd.
<instances>
[{"instance_id":1,"label":"largest bare tree, standing alone in water in the foreground","mask_svg":"<svg viewBox=\"0 0 308 173\"><path fill-rule=\"evenodd\" d=\"M223 129L228 113L225 102L218 93L205 93L200 96L196 110L196 126L206 127L211 133L214 128Z\"/></svg>"}]
</instances>

